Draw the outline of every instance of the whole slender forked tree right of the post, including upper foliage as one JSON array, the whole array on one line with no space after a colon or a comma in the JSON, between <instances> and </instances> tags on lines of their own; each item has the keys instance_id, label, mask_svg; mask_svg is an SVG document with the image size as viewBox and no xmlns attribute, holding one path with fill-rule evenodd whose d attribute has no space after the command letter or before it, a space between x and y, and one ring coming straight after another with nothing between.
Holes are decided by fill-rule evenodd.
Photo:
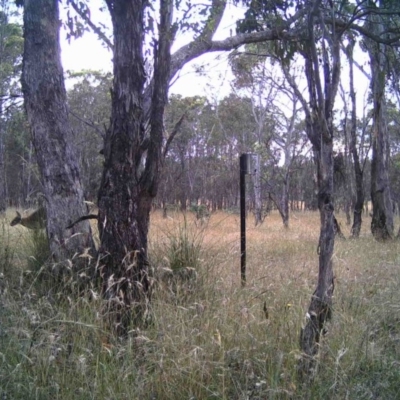
<instances>
[{"instance_id":1,"label":"whole slender forked tree right of the post, including upper foliage","mask_svg":"<svg viewBox=\"0 0 400 400\"><path fill-rule=\"evenodd\" d=\"M296 42L280 42L275 54L280 56L286 79L300 100L305 113L306 132L312 144L317 166L318 208L321 219L319 239L319 277L301 333L301 348L307 357L301 370L309 372L314 365L318 343L324 324L329 320L334 290L332 255L335 239L333 215L333 109L340 77L340 38L343 29L326 24L325 19L334 15L332 3L322 1L299 2L297 7L307 9L301 35ZM259 13L270 23L270 15L287 18L289 2L263 3ZM252 28L254 29L254 28ZM308 98L300 91L289 72L289 63L298 53L304 63Z\"/></svg>"}]
</instances>

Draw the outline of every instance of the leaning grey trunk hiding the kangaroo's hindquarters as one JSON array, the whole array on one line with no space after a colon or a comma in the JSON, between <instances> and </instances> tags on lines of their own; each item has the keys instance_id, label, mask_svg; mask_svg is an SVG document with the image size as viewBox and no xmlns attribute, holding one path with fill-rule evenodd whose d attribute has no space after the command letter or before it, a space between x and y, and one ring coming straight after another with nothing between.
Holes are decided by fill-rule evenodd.
<instances>
[{"instance_id":1,"label":"leaning grey trunk hiding the kangaroo's hindquarters","mask_svg":"<svg viewBox=\"0 0 400 400\"><path fill-rule=\"evenodd\" d=\"M78 162L71 147L59 44L58 0L24 2L22 90L47 211L47 236L57 262L93 248L89 222L66 230L87 213Z\"/></svg>"}]
</instances>

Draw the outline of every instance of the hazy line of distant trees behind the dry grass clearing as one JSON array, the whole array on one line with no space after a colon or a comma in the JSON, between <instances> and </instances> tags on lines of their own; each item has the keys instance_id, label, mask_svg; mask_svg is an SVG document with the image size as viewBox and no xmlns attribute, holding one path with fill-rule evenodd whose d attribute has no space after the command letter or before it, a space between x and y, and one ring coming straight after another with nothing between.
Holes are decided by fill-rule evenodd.
<instances>
[{"instance_id":1,"label":"hazy line of distant trees behind the dry grass clearing","mask_svg":"<svg viewBox=\"0 0 400 400\"><path fill-rule=\"evenodd\" d=\"M96 202L101 179L104 157L102 138L109 119L111 76L95 71L74 73L68 90L70 121L73 139L78 150L82 171L85 198ZM392 199L398 210L400 183L396 162L400 149L400 136L396 129L399 115L393 108L390 113L392 153L390 177ZM166 111L165 135L173 131L182 119L173 140L168 146L162 171L162 178L154 208L169 207L187 210L192 205L203 204L209 211L239 210L239 156L243 152L261 154L261 193L263 212L277 209L280 193L284 186L284 165L282 151L271 138L276 137L276 121L271 120L262 131L261 146L255 140L256 121L252 101L249 97L231 94L218 103L203 97L185 98L172 95ZM5 182L7 205L14 207L35 207L41 196L36 157L33 151L29 129L22 104L13 104L4 118ZM359 121L362 126L362 121ZM301 120L297 129L304 135ZM343 126L338 126L338 143L345 143ZM363 127L368 131L370 127ZM370 133L364 146L370 146ZM348 148L336 155L335 162L335 203L337 211L349 215L354 203L354 167ZM315 164L312 152L303 149L290 167L288 206L290 210L317 210ZM369 196L370 160L365 160L367 173L364 174L365 203ZM248 178L248 208L254 209L253 181ZM367 208L365 209L367 211Z\"/></svg>"}]
</instances>

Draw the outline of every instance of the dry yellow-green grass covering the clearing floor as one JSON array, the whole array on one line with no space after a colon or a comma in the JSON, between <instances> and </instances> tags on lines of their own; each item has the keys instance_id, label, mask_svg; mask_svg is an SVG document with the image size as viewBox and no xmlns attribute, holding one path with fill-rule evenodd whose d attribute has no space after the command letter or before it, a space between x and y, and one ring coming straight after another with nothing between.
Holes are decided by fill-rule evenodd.
<instances>
[{"instance_id":1,"label":"dry yellow-green grass covering the clearing floor","mask_svg":"<svg viewBox=\"0 0 400 400\"><path fill-rule=\"evenodd\" d=\"M0 396L10 399L396 399L400 243L336 241L334 317L312 384L297 381L299 332L317 278L319 217L248 221L154 213L153 323L113 337L95 289L55 296L34 279L24 228L1 226ZM340 220L340 215L339 215ZM342 222L344 233L348 228ZM347 232L346 232L347 231ZM172 271L172 272L171 272Z\"/></svg>"}]
</instances>

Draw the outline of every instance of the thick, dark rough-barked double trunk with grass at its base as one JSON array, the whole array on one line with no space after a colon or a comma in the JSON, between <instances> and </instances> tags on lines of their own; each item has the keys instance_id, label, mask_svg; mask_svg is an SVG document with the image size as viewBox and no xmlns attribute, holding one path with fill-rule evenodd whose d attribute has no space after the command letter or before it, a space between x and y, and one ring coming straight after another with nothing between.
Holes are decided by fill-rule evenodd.
<instances>
[{"instance_id":1,"label":"thick, dark rough-barked double trunk with grass at its base","mask_svg":"<svg viewBox=\"0 0 400 400\"><path fill-rule=\"evenodd\" d=\"M114 81L98 196L99 259L103 291L120 334L125 334L131 323L143 322L150 298L147 235L151 203L157 193L169 83L172 3L165 0L160 5L150 126L146 126L146 5L143 0L107 0L114 31Z\"/></svg>"}]
</instances>

